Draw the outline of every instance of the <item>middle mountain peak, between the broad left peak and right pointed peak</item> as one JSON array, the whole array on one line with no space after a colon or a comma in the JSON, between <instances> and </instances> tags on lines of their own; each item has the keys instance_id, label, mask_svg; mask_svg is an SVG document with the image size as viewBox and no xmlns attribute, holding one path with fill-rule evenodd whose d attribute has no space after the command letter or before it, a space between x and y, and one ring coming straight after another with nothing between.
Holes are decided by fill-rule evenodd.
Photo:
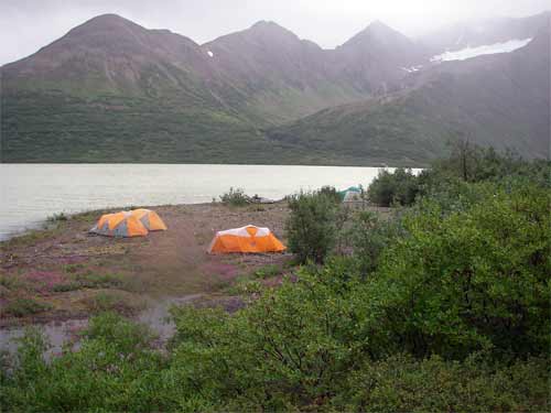
<instances>
[{"instance_id":1,"label":"middle mountain peak, between the broad left peak and right pointed peak","mask_svg":"<svg viewBox=\"0 0 551 413\"><path fill-rule=\"evenodd\" d=\"M327 52L273 22L261 21L203 45L216 73L238 91L233 106L259 124L273 124L358 100L341 81Z\"/></svg>"}]
</instances>

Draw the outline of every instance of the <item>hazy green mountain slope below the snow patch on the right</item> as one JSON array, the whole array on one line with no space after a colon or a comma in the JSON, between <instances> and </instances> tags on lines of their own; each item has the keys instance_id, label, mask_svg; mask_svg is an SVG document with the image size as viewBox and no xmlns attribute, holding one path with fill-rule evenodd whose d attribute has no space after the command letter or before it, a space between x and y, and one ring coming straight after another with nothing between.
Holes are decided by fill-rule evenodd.
<instances>
[{"instance_id":1,"label":"hazy green mountain slope below the snow patch on the right","mask_svg":"<svg viewBox=\"0 0 551 413\"><path fill-rule=\"evenodd\" d=\"M426 164L457 138L549 157L550 36L512 53L433 65L408 88L271 129L271 140L370 163Z\"/></svg>"}]
</instances>

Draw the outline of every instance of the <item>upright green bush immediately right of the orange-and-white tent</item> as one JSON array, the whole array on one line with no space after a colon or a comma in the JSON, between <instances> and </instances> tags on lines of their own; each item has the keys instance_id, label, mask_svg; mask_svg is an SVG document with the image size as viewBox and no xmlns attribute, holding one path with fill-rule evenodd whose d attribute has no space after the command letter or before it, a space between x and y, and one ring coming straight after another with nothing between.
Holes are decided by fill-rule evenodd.
<instances>
[{"instance_id":1,"label":"upright green bush immediately right of the orange-and-white tent","mask_svg":"<svg viewBox=\"0 0 551 413\"><path fill-rule=\"evenodd\" d=\"M322 192L291 196L285 222L288 247L299 262L323 263L335 243L337 198Z\"/></svg>"}]
</instances>

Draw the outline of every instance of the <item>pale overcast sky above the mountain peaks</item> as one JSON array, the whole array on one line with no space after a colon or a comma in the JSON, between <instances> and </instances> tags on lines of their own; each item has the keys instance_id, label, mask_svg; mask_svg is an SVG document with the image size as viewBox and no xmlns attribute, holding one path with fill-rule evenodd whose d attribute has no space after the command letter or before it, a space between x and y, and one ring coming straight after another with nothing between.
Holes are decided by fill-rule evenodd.
<instances>
[{"instance_id":1,"label":"pale overcast sky above the mountain peaks","mask_svg":"<svg viewBox=\"0 0 551 413\"><path fill-rule=\"evenodd\" d=\"M414 37L456 21L543 10L551 10L551 0L0 0L0 65L102 13L197 43L272 20L328 48L377 19Z\"/></svg>"}]
</instances>

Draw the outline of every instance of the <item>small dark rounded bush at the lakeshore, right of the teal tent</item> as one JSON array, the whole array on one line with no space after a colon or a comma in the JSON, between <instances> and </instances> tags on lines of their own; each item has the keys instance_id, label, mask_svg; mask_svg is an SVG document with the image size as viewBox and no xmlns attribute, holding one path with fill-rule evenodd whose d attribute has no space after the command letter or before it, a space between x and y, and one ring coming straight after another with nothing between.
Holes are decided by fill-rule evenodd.
<instances>
[{"instance_id":1,"label":"small dark rounded bush at the lakeshore, right of the teal tent","mask_svg":"<svg viewBox=\"0 0 551 413\"><path fill-rule=\"evenodd\" d=\"M380 170L379 175L369 185L368 193L369 199L380 206L411 205L419 193L418 178L411 170L402 167L393 173Z\"/></svg>"}]
</instances>

